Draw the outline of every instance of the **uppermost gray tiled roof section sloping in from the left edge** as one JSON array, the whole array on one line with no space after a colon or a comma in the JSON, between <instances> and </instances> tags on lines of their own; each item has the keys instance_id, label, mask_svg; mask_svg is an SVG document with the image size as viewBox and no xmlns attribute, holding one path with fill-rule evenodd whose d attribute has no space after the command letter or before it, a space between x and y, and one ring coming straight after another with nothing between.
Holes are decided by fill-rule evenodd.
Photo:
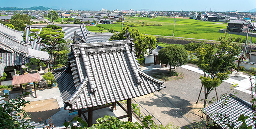
<instances>
[{"instance_id":1,"label":"uppermost gray tiled roof section sloping in from the left edge","mask_svg":"<svg viewBox=\"0 0 256 129\"><path fill-rule=\"evenodd\" d=\"M1 23L0 23L0 31L18 41L23 41L23 31L17 31Z\"/></svg>"}]
</instances>

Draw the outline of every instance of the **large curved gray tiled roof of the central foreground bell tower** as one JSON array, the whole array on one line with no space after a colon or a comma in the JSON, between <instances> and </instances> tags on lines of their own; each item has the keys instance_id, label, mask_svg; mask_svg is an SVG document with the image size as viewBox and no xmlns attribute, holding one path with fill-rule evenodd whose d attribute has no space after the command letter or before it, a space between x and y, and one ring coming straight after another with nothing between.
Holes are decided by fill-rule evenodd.
<instances>
[{"instance_id":1,"label":"large curved gray tiled roof of the central foreground bell tower","mask_svg":"<svg viewBox=\"0 0 256 129\"><path fill-rule=\"evenodd\" d=\"M65 109L96 107L159 91L164 82L140 70L131 41L71 44L69 70L55 73ZM71 82L73 82L71 84Z\"/></svg>"}]
</instances>

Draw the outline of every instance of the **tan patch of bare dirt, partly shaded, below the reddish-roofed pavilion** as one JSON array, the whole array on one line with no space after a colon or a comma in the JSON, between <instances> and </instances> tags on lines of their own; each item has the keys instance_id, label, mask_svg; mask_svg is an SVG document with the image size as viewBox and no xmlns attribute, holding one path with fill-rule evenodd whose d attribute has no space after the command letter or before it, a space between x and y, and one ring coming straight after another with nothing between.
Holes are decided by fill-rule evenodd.
<instances>
[{"instance_id":1,"label":"tan patch of bare dirt, partly shaded, below the reddish-roofed pavilion","mask_svg":"<svg viewBox=\"0 0 256 129\"><path fill-rule=\"evenodd\" d=\"M35 122L40 122L38 116L40 116L40 118L44 121L60 111L57 100L53 98L47 100L32 101L30 104L26 104L26 107L23 109L25 109L26 112L30 114L30 121Z\"/></svg>"}]
</instances>

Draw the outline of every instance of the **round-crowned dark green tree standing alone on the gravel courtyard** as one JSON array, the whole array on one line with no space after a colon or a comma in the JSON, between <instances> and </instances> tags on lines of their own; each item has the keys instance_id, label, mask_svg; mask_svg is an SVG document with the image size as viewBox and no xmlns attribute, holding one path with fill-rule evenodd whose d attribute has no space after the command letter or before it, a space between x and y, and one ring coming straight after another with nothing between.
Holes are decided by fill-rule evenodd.
<instances>
[{"instance_id":1,"label":"round-crowned dark green tree standing alone on the gravel courtyard","mask_svg":"<svg viewBox=\"0 0 256 129\"><path fill-rule=\"evenodd\" d=\"M170 65L170 73L172 66L182 66L187 64L188 62L188 54L184 48L179 46L167 46L166 48L162 48L158 52L158 59L162 64Z\"/></svg>"}]
</instances>

